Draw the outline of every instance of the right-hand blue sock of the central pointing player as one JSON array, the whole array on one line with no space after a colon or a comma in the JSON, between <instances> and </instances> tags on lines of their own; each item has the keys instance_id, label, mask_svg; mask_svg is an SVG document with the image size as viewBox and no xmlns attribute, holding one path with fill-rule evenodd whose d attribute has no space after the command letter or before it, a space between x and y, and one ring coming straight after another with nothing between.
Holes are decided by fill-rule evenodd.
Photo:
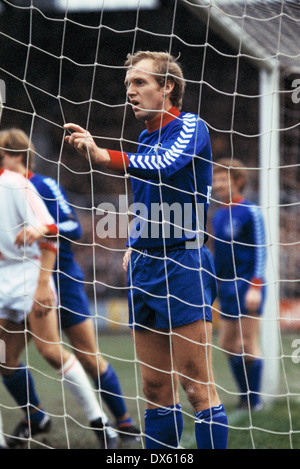
<instances>
[{"instance_id":1,"label":"right-hand blue sock of the central pointing player","mask_svg":"<svg viewBox=\"0 0 300 469\"><path fill-rule=\"evenodd\" d=\"M195 413L195 434L198 449L226 449L228 421L224 406Z\"/></svg>"}]
</instances>

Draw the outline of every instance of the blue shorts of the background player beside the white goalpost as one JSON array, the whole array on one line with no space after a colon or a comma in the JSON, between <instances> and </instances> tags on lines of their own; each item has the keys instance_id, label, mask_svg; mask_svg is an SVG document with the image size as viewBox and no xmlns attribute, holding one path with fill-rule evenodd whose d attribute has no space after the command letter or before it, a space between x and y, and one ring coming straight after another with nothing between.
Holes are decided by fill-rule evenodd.
<instances>
[{"instance_id":1,"label":"blue shorts of the background player beside the white goalpost","mask_svg":"<svg viewBox=\"0 0 300 469\"><path fill-rule=\"evenodd\" d=\"M239 279L237 281L223 281L219 287L220 314L222 319L235 320L241 316L249 315L245 307L245 296L251 283ZM266 288L262 287L262 302L256 314L262 315Z\"/></svg>"}]
</instances>

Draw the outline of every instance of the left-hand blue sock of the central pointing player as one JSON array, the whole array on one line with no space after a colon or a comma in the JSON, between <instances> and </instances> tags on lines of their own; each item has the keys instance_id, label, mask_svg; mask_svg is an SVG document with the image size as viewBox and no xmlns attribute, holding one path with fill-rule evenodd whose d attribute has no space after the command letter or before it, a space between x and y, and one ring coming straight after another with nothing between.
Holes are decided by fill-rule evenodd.
<instances>
[{"instance_id":1,"label":"left-hand blue sock of the central pointing player","mask_svg":"<svg viewBox=\"0 0 300 469\"><path fill-rule=\"evenodd\" d=\"M177 448L182 434L181 405L145 411L146 449Z\"/></svg>"}]
</instances>

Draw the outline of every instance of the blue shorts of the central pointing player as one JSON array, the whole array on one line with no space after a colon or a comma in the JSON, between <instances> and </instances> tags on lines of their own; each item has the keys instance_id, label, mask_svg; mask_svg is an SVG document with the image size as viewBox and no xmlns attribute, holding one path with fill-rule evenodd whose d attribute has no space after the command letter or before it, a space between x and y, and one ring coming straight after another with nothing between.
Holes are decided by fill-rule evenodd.
<instances>
[{"instance_id":1,"label":"blue shorts of the central pointing player","mask_svg":"<svg viewBox=\"0 0 300 469\"><path fill-rule=\"evenodd\" d=\"M203 270L200 270L200 266ZM170 329L198 319L212 321L217 285L206 246L133 251L127 268L129 326Z\"/></svg>"}]
</instances>

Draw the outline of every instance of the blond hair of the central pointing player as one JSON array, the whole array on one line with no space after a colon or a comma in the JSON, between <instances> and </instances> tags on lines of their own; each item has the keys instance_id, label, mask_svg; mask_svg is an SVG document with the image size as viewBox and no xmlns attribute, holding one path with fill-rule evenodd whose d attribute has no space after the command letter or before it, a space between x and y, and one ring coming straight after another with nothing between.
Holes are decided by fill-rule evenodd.
<instances>
[{"instance_id":1,"label":"blond hair of the central pointing player","mask_svg":"<svg viewBox=\"0 0 300 469\"><path fill-rule=\"evenodd\" d=\"M125 66L136 66L138 62L144 59L150 59L153 61L155 79L161 88L165 86L166 81L174 83L170 100L173 106L176 106L181 110L183 95L185 92L185 80L177 59L168 52L139 51L135 54L127 55Z\"/></svg>"}]
</instances>

